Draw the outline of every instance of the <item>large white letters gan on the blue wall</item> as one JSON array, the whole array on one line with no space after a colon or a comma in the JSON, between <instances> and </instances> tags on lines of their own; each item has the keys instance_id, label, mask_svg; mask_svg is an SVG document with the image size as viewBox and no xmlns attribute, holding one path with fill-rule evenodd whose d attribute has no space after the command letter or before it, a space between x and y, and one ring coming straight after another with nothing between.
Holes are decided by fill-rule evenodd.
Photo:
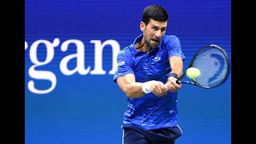
<instances>
[{"instance_id":1,"label":"large white letters gan on the blue wall","mask_svg":"<svg viewBox=\"0 0 256 144\"><path fill-rule=\"evenodd\" d=\"M110 45L112 47L112 70L109 71L109 74L114 74L115 70L118 67L117 64L117 55L120 50L120 45L117 41L110 39L106 40L105 42L102 42L100 40L91 40L90 43L94 43L94 70L90 71L90 66L87 66L85 68L86 62L85 62L85 45L82 41L78 39L69 39L62 43L61 50L62 52L66 52L68 50L70 44L74 44L77 48L77 52L75 54L67 55L66 57L62 58L59 69L64 75L72 75L78 72L78 74L86 75L86 74L106 74L106 70L102 69L102 52L103 48L106 45ZM40 62L38 60L38 45L43 44L46 46L46 58L45 61ZM30 50L30 61L34 64L33 66L30 66L28 70L28 74L30 78L33 80L30 80L27 84L28 90L34 94L48 94L57 85L57 78L56 75L47 70L36 70L36 67L39 66L45 66L46 64L49 64L53 58L54 58L54 47L57 47L60 44L59 38L54 38L54 42L50 42L44 39L37 40L32 43L32 45L28 46L28 43L25 41L25 50ZM68 62L70 60L76 58L77 66L73 70L68 69ZM44 81L50 81L51 86L49 88L46 88L44 90L39 90L35 86L34 80L44 80ZM40 82L40 81L37 81ZM43 81L42 81L43 82Z\"/></svg>"}]
</instances>

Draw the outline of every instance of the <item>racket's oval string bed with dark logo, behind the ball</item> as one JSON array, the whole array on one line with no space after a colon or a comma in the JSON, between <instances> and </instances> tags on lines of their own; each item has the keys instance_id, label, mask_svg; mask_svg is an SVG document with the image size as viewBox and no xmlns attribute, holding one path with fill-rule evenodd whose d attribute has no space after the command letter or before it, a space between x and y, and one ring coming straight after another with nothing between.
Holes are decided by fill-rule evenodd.
<instances>
[{"instance_id":1,"label":"racket's oval string bed with dark logo, behind the ball","mask_svg":"<svg viewBox=\"0 0 256 144\"><path fill-rule=\"evenodd\" d=\"M215 47L200 50L195 56L192 66L201 71L201 76L196 78L202 86L215 87L225 82L229 63L226 54Z\"/></svg>"}]
</instances>

